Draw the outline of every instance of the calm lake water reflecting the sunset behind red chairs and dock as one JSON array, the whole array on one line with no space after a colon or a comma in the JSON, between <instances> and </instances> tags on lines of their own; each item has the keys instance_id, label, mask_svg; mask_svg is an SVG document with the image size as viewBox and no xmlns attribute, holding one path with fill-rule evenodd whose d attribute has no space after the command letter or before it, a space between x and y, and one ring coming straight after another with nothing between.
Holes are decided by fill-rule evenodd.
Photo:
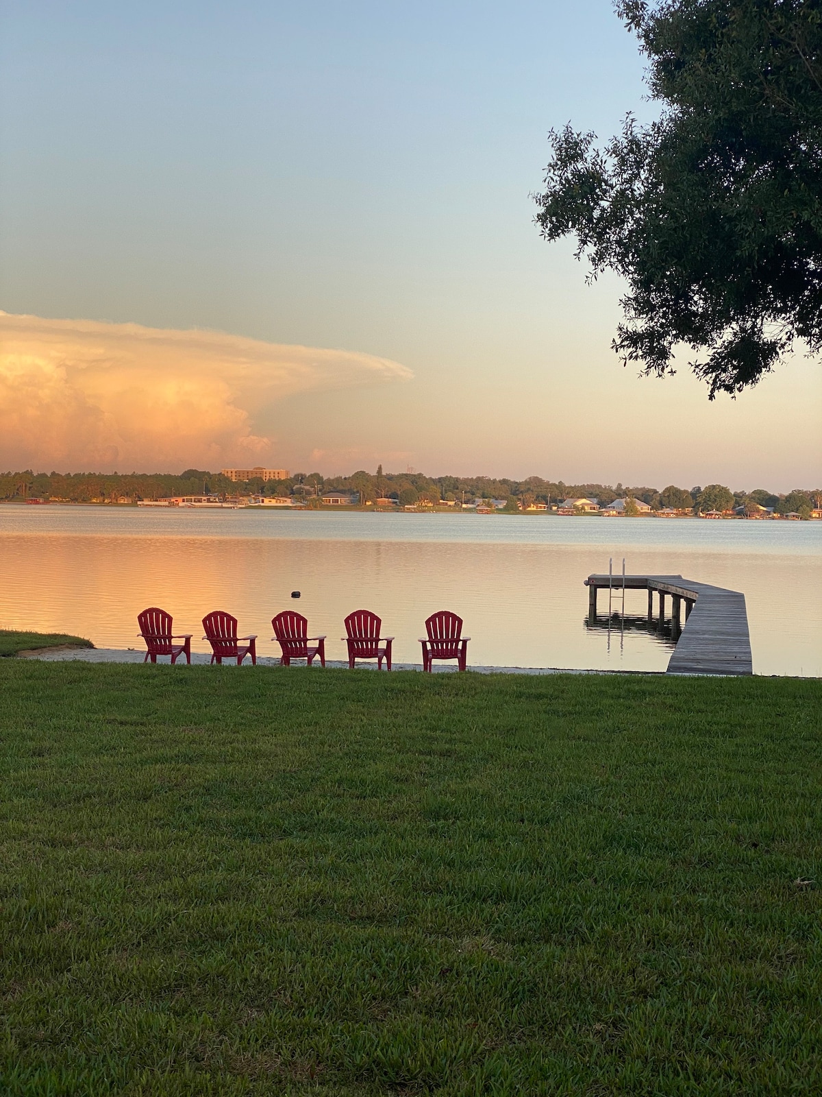
<instances>
[{"instance_id":1,"label":"calm lake water reflecting the sunset behind red chairs and dock","mask_svg":"<svg viewBox=\"0 0 822 1097\"><path fill-rule=\"evenodd\" d=\"M664 670L671 642L632 626L644 591L627 592L625 631L608 633L607 595L587 625L584 578L625 556L629 573L741 590L756 674L822 676L822 522L5 505L0 553L0 627L99 647L141 646L137 613L161 606L196 651L203 617L225 609L274 655L271 619L294 608L341 659L343 618L366 608L396 661L419 663L425 618L450 609L475 666Z\"/></svg>"}]
</instances>

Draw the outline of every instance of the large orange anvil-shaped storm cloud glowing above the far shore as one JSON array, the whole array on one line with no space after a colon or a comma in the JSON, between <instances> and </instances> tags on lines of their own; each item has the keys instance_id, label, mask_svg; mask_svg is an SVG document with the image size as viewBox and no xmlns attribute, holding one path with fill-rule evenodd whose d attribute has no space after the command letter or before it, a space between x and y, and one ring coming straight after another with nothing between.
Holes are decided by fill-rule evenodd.
<instances>
[{"instance_id":1,"label":"large orange anvil-shaped storm cloud glowing above the far shore","mask_svg":"<svg viewBox=\"0 0 822 1097\"><path fill-rule=\"evenodd\" d=\"M0 313L0 467L263 462L283 398L411 376L352 351Z\"/></svg>"}]
</instances>

